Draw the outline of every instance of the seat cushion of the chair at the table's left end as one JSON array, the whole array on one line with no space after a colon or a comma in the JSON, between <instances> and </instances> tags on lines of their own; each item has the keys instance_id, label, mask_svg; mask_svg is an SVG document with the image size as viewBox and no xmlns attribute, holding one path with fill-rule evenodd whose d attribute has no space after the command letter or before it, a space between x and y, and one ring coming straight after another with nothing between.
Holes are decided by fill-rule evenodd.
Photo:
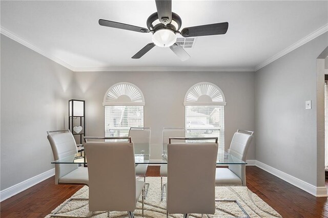
<instances>
[{"instance_id":1,"label":"seat cushion of the chair at the table's left end","mask_svg":"<svg viewBox=\"0 0 328 218\"><path fill-rule=\"evenodd\" d=\"M59 183L85 184L89 185L89 175L87 167L78 167L59 178Z\"/></svg>"}]
</instances>

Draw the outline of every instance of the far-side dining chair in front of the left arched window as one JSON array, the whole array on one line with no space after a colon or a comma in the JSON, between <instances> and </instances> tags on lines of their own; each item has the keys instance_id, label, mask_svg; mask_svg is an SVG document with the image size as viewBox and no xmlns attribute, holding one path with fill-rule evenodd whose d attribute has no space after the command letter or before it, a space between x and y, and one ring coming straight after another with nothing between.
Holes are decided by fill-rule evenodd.
<instances>
[{"instance_id":1,"label":"far-side dining chair in front of the left arched window","mask_svg":"<svg viewBox=\"0 0 328 218\"><path fill-rule=\"evenodd\" d=\"M131 137L134 144L134 153L136 155L150 156L150 128L149 127L131 127L129 130L129 137ZM146 172L148 164L138 164L135 167L135 174L138 177L144 177L146 182Z\"/></svg>"}]
</instances>

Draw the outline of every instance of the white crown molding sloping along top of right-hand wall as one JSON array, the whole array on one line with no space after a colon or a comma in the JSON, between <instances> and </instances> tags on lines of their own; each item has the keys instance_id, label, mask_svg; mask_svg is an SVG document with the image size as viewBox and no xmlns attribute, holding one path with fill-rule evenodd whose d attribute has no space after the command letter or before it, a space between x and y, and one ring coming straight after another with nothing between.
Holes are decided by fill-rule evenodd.
<instances>
[{"instance_id":1,"label":"white crown molding sloping along top of right-hand wall","mask_svg":"<svg viewBox=\"0 0 328 218\"><path fill-rule=\"evenodd\" d=\"M281 52L279 52L278 54L272 56L271 58L265 60L264 62L258 64L255 67L255 71L260 70L261 68L267 66L269 63L272 63L273 61L277 60L278 58L294 51L295 49L303 46L305 43L308 43L309 41L311 41L312 39L320 36L321 34L325 33L328 31L328 24L325 24L324 26L322 26L321 28L317 29L316 31L312 32L311 34L305 36L304 38L302 38L301 40L295 42L293 45L291 45L290 47L285 48L284 50L282 50Z\"/></svg>"}]
</instances>

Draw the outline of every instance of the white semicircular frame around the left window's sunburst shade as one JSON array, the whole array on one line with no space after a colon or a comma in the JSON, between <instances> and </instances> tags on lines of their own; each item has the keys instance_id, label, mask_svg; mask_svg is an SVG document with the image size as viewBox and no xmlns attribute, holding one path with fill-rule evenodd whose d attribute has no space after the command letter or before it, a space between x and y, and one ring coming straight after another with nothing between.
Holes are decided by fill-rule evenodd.
<instances>
[{"instance_id":1,"label":"white semicircular frame around the left window's sunburst shade","mask_svg":"<svg viewBox=\"0 0 328 218\"><path fill-rule=\"evenodd\" d=\"M112 101L109 101L109 99L108 99L108 93L111 92L116 86L121 85L121 84L131 85L134 89L136 89L136 91L138 92L138 94L140 94L141 101L137 101L137 102L120 102L120 101L118 101L118 99L113 99ZM121 106L133 106L133 105L136 105L136 106L145 106L145 97L144 97L144 94L142 94L141 90L138 88L138 86L136 86L135 84L132 84L130 82L118 82L118 83L115 83L114 85L112 85L107 90L107 92L105 93L105 96L104 96L104 101L103 101L103 106L115 106L115 105L121 105Z\"/></svg>"}]
</instances>

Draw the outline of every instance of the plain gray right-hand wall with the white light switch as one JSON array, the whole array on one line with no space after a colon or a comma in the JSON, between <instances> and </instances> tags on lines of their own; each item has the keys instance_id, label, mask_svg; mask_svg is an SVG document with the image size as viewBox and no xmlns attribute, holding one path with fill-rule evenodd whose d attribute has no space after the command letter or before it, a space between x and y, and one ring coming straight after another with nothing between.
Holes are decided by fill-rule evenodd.
<instances>
[{"instance_id":1,"label":"plain gray right-hand wall with the white light switch","mask_svg":"<svg viewBox=\"0 0 328 218\"><path fill-rule=\"evenodd\" d=\"M315 186L324 186L317 178L316 58L327 45L325 33L256 72L256 160Z\"/></svg>"}]
</instances>

